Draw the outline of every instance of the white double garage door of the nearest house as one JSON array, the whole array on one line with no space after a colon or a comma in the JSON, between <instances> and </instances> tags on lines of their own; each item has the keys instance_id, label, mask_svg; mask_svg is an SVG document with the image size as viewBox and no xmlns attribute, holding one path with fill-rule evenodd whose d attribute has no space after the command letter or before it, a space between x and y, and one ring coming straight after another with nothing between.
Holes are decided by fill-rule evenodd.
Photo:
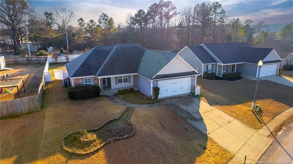
<instances>
[{"instance_id":1,"label":"white double garage door of the nearest house","mask_svg":"<svg viewBox=\"0 0 293 164\"><path fill-rule=\"evenodd\" d=\"M159 81L159 97L178 95L190 92L191 78L179 78L174 80Z\"/></svg>"}]
</instances>

